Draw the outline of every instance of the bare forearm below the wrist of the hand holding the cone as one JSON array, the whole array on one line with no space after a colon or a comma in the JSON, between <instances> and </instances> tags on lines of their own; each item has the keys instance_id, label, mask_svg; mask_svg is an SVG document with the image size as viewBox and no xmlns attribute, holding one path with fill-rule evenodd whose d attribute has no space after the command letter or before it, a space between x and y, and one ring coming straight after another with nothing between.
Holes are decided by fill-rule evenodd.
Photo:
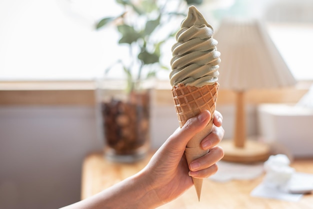
<instances>
[{"instance_id":1,"label":"bare forearm below the wrist of the hand holding the cone","mask_svg":"<svg viewBox=\"0 0 313 209\"><path fill-rule=\"evenodd\" d=\"M69 208L155 208L161 202L156 198L152 188L145 179L145 174L139 172L103 191L71 204Z\"/></svg>"}]
</instances>

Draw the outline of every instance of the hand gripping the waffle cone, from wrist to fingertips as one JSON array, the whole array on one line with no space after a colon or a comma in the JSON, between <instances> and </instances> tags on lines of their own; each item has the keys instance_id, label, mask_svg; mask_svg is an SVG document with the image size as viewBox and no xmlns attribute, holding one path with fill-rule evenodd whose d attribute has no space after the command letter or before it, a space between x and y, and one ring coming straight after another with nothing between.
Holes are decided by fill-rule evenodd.
<instances>
[{"instance_id":1,"label":"hand gripping the waffle cone, from wrist to fingertips","mask_svg":"<svg viewBox=\"0 0 313 209\"><path fill-rule=\"evenodd\" d=\"M192 185L190 176L205 178L217 171L218 160L223 157L223 150L216 146L222 139L222 115L214 112L212 132L201 141L203 149L209 149L204 156L193 160L189 165L184 156L184 149L189 139L201 131L209 122L209 111L190 118L182 128L177 129L152 156L142 170L146 182L150 182L158 202L166 203L183 193Z\"/></svg>"}]
</instances>

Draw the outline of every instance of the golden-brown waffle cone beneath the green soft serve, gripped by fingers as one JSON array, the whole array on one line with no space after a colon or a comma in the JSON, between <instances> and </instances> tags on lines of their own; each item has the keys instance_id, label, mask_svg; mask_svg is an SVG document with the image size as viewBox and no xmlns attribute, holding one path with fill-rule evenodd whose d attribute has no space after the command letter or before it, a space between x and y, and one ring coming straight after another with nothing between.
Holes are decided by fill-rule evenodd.
<instances>
[{"instance_id":1,"label":"golden-brown waffle cone beneath the green soft serve, gripped by fingers","mask_svg":"<svg viewBox=\"0 0 313 209\"><path fill-rule=\"evenodd\" d=\"M200 142L212 131L217 90L217 82L202 87L185 86L183 83L178 83L172 88L173 100L180 127L182 127L189 118L198 115L204 110L209 110L211 113L211 118L205 128L193 136L186 145L185 156L188 164L208 152L208 150L201 148ZM202 178L192 177L192 181L198 199L200 199Z\"/></svg>"}]
</instances>

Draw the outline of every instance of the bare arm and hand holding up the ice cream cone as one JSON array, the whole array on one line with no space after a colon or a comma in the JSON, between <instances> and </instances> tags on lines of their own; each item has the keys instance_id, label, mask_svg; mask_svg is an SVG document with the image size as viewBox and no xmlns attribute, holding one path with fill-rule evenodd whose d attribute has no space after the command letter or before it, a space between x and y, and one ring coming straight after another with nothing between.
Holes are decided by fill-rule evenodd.
<instances>
[{"instance_id":1,"label":"bare arm and hand holding up the ice cream cone","mask_svg":"<svg viewBox=\"0 0 313 209\"><path fill-rule=\"evenodd\" d=\"M176 198L192 185L189 170L195 177L207 177L216 171L215 162L223 155L219 147L213 147L223 136L221 121L218 121L221 115L215 112L212 133L201 141L202 147L209 142L204 149L210 148L210 151L191 162L193 165L199 162L199 168L188 167L185 160L186 143L204 128L209 118L209 112L204 111L189 119L169 136L141 171L68 208L154 208Z\"/></svg>"}]
</instances>

